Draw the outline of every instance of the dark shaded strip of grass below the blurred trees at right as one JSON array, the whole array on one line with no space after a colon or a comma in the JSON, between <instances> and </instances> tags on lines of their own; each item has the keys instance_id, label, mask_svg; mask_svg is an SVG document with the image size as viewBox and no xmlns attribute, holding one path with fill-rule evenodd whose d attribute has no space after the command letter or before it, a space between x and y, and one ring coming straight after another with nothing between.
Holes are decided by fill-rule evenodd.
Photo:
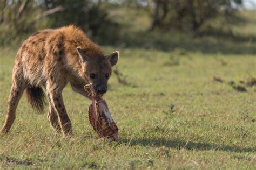
<instances>
[{"instance_id":1,"label":"dark shaded strip of grass below the blurred trees at right","mask_svg":"<svg viewBox=\"0 0 256 170\"><path fill-rule=\"evenodd\" d=\"M119 37L118 45L130 48L173 51L184 48L190 52L207 54L255 54L256 36L234 35L232 32L205 32L199 36L185 32L134 32Z\"/></svg>"}]
</instances>

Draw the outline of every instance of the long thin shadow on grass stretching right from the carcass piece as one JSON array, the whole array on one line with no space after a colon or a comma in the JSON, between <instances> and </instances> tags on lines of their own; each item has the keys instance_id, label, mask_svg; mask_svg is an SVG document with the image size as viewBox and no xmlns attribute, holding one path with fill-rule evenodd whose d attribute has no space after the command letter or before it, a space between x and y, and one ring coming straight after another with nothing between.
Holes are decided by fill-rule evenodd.
<instances>
[{"instance_id":1,"label":"long thin shadow on grass stretching right from the carcass piece","mask_svg":"<svg viewBox=\"0 0 256 170\"><path fill-rule=\"evenodd\" d=\"M256 150L248 147L235 147L228 145L215 145L207 143L196 143L192 141L166 140L166 139L122 139L120 143L128 144L130 146L156 146L156 147L170 147L178 150L216 150L228 152L255 152Z\"/></svg>"}]
</instances>

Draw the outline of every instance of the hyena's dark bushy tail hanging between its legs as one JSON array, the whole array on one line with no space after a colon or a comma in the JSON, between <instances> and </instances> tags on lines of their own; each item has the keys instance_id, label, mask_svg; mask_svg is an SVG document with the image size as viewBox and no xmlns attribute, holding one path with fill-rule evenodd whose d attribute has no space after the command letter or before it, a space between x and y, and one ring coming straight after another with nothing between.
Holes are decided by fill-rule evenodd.
<instances>
[{"instance_id":1,"label":"hyena's dark bushy tail hanging between its legs","mask_svg":"<svg viewBox=\"0 0 256 170\"><path fill-rule=\"evenodd\" d=\"M41 87L26 87L26 98L28 98L28 102L34 110L43 113L45 94Z\"/></svg>"}]
</instances>

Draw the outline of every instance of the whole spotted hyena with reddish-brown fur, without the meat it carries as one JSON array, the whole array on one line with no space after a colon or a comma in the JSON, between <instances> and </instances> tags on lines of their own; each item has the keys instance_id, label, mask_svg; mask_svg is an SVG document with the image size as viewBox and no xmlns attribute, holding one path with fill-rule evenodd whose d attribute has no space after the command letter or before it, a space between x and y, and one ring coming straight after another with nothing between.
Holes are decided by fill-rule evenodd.
<instances>
[{"instance_id":1,"label":"whole spotted hyena with reddish-brown fur, without the meat it carries","mask_svg":"<svg viewBox=\"0 0 256 170\"><path fill-rule=\"evenodd\" d=\"M107 91L111 67L118 52L105 56L76 26L42 30L32 34L19 48L13 73L8 111L2 132L9 132L15 120L18 102L26 89L32 108L44 107L44 91L49 98L48 119L56 131L71 134L71 121L66 112L62 90L70 82L74 91L88 97L83 86L94 84L100 94Z\"/></svg>"}]
</instances>

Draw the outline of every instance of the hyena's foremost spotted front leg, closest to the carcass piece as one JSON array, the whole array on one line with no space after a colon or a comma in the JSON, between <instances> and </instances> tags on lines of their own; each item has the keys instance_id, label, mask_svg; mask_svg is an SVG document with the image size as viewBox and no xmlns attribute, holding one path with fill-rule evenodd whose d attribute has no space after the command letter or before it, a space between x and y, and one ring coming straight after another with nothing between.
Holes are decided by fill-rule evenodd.
<instances>
[{"instance_id":1,"label":"hyena's foremost spotted front leg, closest to the carcass piece","mask_svg":"<svg viewBox=\"0 0 256 170\"><path fill-rule=\"evenodd\" d=\"M60 128L62 129L64 136L68 136L69 134L72 134L72 125L71 121L69 119L69 116L66 112L65 105L63 103L63 97L62 97L62 87L59 87L59 84L55 83L48 83L49 87L47 88L49 91L50 96L50 102L57 112L59 122L60 122Z\"/></svg>"}]
</instances>

